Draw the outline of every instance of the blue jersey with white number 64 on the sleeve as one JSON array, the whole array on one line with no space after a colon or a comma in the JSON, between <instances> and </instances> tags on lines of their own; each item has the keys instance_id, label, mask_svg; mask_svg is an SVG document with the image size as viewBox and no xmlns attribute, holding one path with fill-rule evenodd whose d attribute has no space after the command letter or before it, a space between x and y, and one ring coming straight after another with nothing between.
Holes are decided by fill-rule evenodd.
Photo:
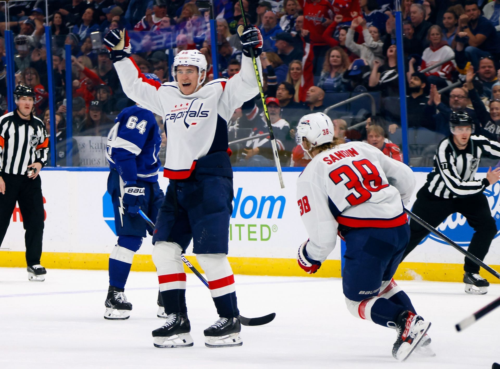
<instances>
[{"instance_id":1,"label":"blue jersey with white number 64 on the sleeve","mask_svg":"<svg viewBox=\"0 0 500 369\"><path fill-rule=\"evenodd\" d=\"M161 163L159 128L153 113L140 105L124 108L107 135L106 158L125 183L156 182Z\"/></svg>"}]
</instances>

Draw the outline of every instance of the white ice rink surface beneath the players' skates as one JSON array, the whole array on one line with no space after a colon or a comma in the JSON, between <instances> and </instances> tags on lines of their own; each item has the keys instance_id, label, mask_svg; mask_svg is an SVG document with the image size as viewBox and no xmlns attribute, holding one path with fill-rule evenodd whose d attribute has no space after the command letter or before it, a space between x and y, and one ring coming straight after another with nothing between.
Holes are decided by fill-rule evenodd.
<instances>
[{"instance_id":1,"label":"white ice rink surface beneath the players' skates","mask_svg":"<svg viewBox=\"0 0 500 369\"><path fill-rule=\"evenodd\" d=\"M491 277L492 278L492 277ZM130 273L125 294L133 304L126 321L102 318L106 271L48 270L28 282L25 269L0 268L0 368L491 368L500 362L500 309L463 332L454 325L500 295L471 296L461 283L398 282L417 312L432 322L435 358L391 356L395 331L352 317L340 279L235 276L240 312L271 312L261 327L243 327L243 346L209 349L203 329L216 319L207 289L187 276L187 307L194 346L156 349L154 273Z\"/></svg>"}]
</instances>

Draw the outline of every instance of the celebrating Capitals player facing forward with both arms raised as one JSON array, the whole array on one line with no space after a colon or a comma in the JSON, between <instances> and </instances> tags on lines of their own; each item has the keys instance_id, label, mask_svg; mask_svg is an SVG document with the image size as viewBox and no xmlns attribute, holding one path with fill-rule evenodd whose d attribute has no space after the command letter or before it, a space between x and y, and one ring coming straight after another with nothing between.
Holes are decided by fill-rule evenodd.
<instances>
[{"instance_id":1,"label":"celebrating Capitals player facing forward with both arms raised","mask_svg":"<svg viewBox=\"0 0 500 369\"><path fill-rule=\"evenodd\" d=\"M258 93L250 48L259 55L260 31L238 29L245 56L231 79L203 85L207 63L198 50L179 52L174 82L144 78L130 55L126 30L104 37L125 94L163 117L168 137L163 175L169 178L153 233L152 259L157 269L165 324L152 332L158 348L192 346L185 304L186 276L181 252L193 240L193 253L205 272L219 319L204 331L207 347L242 345L234 277L227 261L232 213L232 169L227 121L233 111ZM257 58L258 68L260 60Z\"/></svg>"}]
</instances>

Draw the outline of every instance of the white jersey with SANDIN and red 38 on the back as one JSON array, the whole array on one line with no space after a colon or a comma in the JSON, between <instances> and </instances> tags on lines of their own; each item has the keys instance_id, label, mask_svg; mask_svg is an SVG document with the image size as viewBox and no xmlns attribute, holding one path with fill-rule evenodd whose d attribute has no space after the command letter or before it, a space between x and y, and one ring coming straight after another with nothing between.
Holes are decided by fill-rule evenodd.
<instances>
[{"instance_id":1,"label":"white jersey with SANDIN and red 38 on the back","mask_svg":"<svg viewBox=\"0 0 500 369\"><path fill-rule=\"evenodd\" d=\"M403 203L413 172L376 147L349 142L316 155L297 180L297 205L309 235L307 254L325 260L341 228L391 228L407 223Z\"/></svg>"}]
</instances>

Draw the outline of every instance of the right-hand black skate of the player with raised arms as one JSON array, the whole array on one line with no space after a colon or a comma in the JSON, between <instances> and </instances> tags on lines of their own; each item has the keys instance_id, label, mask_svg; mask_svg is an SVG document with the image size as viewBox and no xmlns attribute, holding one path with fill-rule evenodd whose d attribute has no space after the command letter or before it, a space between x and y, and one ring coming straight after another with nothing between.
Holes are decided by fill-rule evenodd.
<instances>
[{"instance_id":1,"label":"right-hand black skate of the player with raised arms","mask_svg":"<svg viewBox=\"0 0 500 369\"><path fill-rule=\"evenodd\" d=\"M203 331L206 347L241 346L241 323L238 318L219 318Z\"/></svg>"}]
</instances>

